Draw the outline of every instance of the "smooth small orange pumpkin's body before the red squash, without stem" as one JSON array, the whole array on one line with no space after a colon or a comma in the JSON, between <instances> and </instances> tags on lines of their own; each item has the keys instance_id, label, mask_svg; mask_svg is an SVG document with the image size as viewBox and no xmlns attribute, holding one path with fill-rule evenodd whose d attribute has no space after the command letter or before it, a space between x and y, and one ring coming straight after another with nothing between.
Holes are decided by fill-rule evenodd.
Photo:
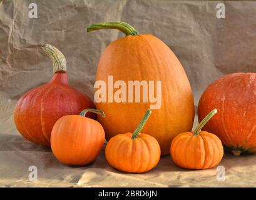
<instances>
[{"instance_id":1,"label":"smooth small orange pumpkin's body before the red squash, without stem","mask_svg":"<svg viewBox=\"0 0 256 200\"><path fill-rule=\"evenodd\" d=\"M79 115L58 119L51 133L51 149L63 164L91 163L104 146L105 133L98 121Z\"/></svg>"}]
</instances>

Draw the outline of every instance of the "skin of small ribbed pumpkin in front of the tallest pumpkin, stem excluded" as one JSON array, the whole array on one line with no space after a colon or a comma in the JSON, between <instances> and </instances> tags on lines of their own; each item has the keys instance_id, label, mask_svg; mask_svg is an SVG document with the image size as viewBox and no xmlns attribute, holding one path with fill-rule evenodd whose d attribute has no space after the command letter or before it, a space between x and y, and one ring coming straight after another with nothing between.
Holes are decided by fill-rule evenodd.
<instances>
[{"instance_id":1,"label":"skin of small ribbed pumpkin in front of the tallest pumpkin, stem excluded","mask_svg":"<svg viewBox=\"0 0 256 200\"><path fill-rule=\"evenodd\" d=\"M127 173L145 173L155 168L161 156L156 139L143 133L135 139L131 136L118 134L108 141L105 156L110 166Z\"/></svg>"}]
</instances>

